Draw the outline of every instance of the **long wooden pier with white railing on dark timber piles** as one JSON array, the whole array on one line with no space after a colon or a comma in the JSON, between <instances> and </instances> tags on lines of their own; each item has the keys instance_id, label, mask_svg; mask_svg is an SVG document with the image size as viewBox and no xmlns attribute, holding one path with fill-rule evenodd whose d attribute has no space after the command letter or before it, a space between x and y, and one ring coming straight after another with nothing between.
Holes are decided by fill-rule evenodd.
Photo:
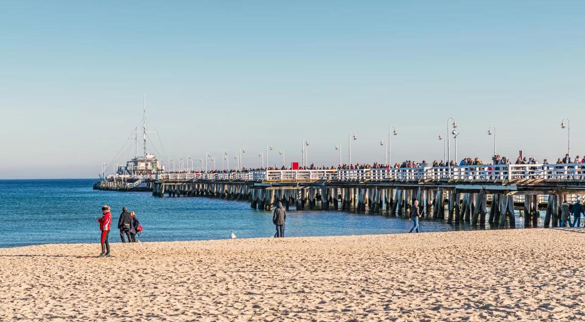
<instances>
[{"instance_id":1,"label":"long wooden pier with white railing on dark timber piles","mask_svg":"<svg viewBox=\"0 0 585 322\"><path fill-rule=\"evenodd\" d=\"M135 188L157 197L245 200L260 210L271 210L281 201L287 209L408 215L414 200L419 200L425 217L472 226L484 225L487 218L500 228L515 227L514 210L519 207L525 227L538 225L541 210L546 210L543 226L557 227L560 204L585 193L581 167L585 165L164 173L141 178Z\"/></svg>"}]
</instances>

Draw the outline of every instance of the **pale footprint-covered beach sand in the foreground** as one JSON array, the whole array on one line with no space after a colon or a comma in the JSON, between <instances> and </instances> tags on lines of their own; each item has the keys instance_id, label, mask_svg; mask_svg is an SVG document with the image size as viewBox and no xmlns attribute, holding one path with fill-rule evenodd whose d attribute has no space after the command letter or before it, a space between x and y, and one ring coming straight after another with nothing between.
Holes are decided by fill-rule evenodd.
<instances>
[{"instance_id":1,"label":"pale footprint-covered beach sand in the foreground","mask_svg":"<svg viewBox=\"0 0 585 322\"><path fill-rule=\"evenodd\" d=\"M0 320L583 320L583 232L5 248Z\"/></svg>"}]
</instances>

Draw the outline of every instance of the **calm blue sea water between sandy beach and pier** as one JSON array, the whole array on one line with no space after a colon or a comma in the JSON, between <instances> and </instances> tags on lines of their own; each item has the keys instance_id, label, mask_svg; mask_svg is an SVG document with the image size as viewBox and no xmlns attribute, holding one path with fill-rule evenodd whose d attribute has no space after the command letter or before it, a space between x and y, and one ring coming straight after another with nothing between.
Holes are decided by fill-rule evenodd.
<instances>
[{"instance_id":1,"label":"calm blue sea water between sandy beach and pier","mask_svg":"<svg viewBox=\"0 0 585 322\"><path fill-rule=\"evenodd\" d=\"M95 217L101 206L112 208L110 242L122 207L134 210L144 227L140 241L187 241L274 235L272 214L252 210L242 201L205 197L157 198L149 192L93 190L93 179L0 180L0 247L99 241ZM517 227L524 224L516 218ZM469 224L422 220L422 231L472 229ZM408 232L407 218L352 211L295 211L287 214L286 236L395 234ZM473 228L473 229L489 229Z\"/></svg>"}]
</instances>

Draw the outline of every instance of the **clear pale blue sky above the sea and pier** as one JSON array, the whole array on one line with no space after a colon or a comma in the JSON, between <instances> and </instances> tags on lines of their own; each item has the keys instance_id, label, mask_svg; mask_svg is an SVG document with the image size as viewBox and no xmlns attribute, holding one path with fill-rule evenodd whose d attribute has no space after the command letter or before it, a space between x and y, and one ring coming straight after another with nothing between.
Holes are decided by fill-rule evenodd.
<instances>
[{"instance_id":1,"label":"clear pale blue sky above the sea and pier","mask_svg":"<svg viewBox=\"0 0 585 322\"><path fill-rule=\"evenodd\" d=\"M243 165L585 155L583 1L0 4L0 179L97 177L134 155L146 95L165 160ZM160 142L158 140L160 136ZM453 145L453 142L451 142ZM128 146L132 148L128 149ZM123 148L125 147L125 148ZM123 149L121 157L113 158ZM156 151L154 151L156 150ZM455 157L452 146L452 159ZM211 164L211 163L210 163Z\"/></svg>"}]
</instances>

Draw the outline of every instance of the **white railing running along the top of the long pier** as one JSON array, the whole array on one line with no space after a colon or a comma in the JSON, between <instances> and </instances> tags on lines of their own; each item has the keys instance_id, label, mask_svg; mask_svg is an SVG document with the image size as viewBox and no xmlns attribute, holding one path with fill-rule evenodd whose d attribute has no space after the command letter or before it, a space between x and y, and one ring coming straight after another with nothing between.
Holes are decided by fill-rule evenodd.
<instances>
[{"instance_id":1,"label":"white railing running along the top of the long pier","mask_svg":"<svg viewBox=\"0 0 585 322\"><path fill-rule=\"evenodd\" d=\"M585 164L559 165L468 165L340 170L254 170L229 173L160 173L156 180L241 181L365 181L365 180L570 180L585 179Z\"/></svg>"}]
</instances>

